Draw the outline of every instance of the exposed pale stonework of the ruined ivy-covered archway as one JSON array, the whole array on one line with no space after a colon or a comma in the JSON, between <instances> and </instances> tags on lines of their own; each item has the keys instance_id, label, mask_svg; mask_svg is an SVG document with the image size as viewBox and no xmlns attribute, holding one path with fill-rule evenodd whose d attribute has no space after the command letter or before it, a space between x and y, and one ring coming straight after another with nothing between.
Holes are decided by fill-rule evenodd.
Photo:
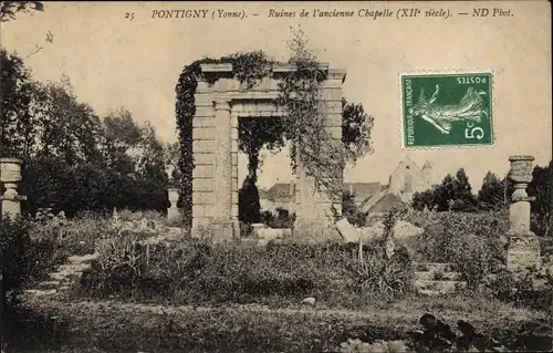
<instances>
[{"instance_id":1,"label":"exposed pale stonework of the ruined ivy-covered archway","mask_svg":"<svg viewBox=\"0 0 553 353\"><path fill-rule=\"evenodd\" d=\"M334 139L341 139L342 84L346 72L321 68L326 72L326 80L320 85L326 128ZM294 70L274 65L271 76L248 89L233 77L231 64L201 64L192 121L192 228L215 224L222 237L238 229L238 121L284 116L275 105L278 84L283 74ZM326 193L316 191L301 165L295 177L296 225L327 225L332 205L340 212L342 199L332 200Z\"/></svg>"}]
</instances>

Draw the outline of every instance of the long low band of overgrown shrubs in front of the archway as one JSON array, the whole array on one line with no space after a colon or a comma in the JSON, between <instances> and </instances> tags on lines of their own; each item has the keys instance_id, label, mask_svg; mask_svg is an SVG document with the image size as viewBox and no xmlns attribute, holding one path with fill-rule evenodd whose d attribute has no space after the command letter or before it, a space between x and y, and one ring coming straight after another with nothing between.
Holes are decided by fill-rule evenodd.
<instances>
[{"instance_id":1,"label":"long low band of overgrown shrubs in front of the archway","mask_svg":"<svg viewBox=\"0 0 553 353\"><path fill-rule=\"evenodd\" d=\"M201 240L140 246L123 238L83 273L82 294L179 303L298 302L305 297L351 307L364 298L400 295L413 270L406 252L384 259L366 246L363 272L357 246L341 243L210 245ZM111 260L107 260L111 259Z\"/></svg>"}]
</instances>

